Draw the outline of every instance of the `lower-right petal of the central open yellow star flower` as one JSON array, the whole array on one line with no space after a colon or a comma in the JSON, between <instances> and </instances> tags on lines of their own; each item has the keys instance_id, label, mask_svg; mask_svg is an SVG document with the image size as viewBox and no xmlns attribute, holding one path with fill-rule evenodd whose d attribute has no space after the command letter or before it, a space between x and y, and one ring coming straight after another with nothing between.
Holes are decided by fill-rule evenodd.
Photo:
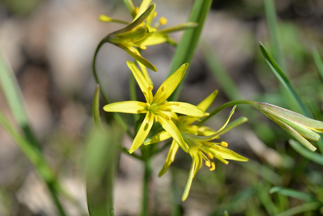
<instances>
[{"instance_id":1,"label":"lower-right petal of the central open yellow star flower","mask_svg":"<svg viewBox=\"0 0 323 216\"><path fill-rule=\"evenodd\" d=\"M161 127L163 127L164 130L172 136L172 138L178 143L178 145L181 146L184 152L187 152L187 147L183 140L183 137L174 122L172 120L166 119L166 115L161 112L155 111L154 114L157 116L158 122L161 124Z\"/></svg>"}]
</instances>

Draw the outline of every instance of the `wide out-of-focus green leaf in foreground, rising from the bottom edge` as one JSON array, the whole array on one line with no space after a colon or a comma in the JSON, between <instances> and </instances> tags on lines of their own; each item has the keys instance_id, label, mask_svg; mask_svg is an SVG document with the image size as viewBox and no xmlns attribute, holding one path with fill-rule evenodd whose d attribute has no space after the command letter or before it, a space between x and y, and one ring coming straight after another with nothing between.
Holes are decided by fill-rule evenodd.
<instances>
[{"instance_id":1,"label":"wide out-of-focus green leaf in foreground, rising from the bottom edge","mask_svg":"<svg viewBox=\"0 0 323 216\"><path fill-rule=\"evenodd\" d=\"M107 134L92 130L86 144L86 194L91 216L114 215L113 179L118 164L118 127L110 127Z\"/></svg>"}]
</instances>

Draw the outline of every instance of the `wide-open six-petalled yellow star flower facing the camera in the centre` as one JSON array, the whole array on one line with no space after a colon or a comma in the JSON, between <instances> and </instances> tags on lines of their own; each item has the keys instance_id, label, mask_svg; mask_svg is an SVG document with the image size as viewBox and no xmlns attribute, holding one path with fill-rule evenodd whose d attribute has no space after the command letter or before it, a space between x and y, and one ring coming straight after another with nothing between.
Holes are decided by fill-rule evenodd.
<instances>
[{"instance_id":1,"label":"wide-open six-petalled yellow star flower facing the camera in the centre","mask_svg":"<svg viewBox=\"0 0 323 216\"><path fill-rule=\"evenodd\" d=\"M164 114L164 112L177 112L193 116L204 115L204 112L201 109L192 104L166 101L177 85L181 82L188 67L188 63L183 64L177 71L167 78L158 88L154 96L152 96L153 86L147 83L136 65L132 62L127 62L127 65L144 94L146 103L139 101L123 101L105 105L103 109L107 112L147 113L129 152L132 153L141 146L151 129L154 119L161 124L164 130L167 131L183 149L185 149L185 143L180 131L172 122L171 117Z\"/></svg>"}]
</instances>

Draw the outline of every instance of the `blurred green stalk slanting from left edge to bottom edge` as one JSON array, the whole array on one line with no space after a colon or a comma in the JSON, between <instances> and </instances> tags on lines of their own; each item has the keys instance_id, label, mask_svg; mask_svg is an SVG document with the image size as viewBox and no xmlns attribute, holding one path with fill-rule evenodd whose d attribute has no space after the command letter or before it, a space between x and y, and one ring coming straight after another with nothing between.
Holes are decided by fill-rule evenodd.
<instances>
[{"instance_id":1,"label":"blurred green stalk slanting from left edge to bottom edge","mask_svg":"<svg viewBox=\"0 0 323 216\"><path fill-rule=\"evenodd\" d=\"M11 136L14 142L18 145L20 150L26 155L32 165L35 167L36 172L44 179L52 195L54 203L60 215L65 216L60 201L57 196L58 183L56 181L54 173L51 171L49 165L47 165L40 151L33 146L26 138L17 133L10 125L9 121L5 118L4 114L0 111L0 124L5 131Z\"/></svg>"}]
</instances>

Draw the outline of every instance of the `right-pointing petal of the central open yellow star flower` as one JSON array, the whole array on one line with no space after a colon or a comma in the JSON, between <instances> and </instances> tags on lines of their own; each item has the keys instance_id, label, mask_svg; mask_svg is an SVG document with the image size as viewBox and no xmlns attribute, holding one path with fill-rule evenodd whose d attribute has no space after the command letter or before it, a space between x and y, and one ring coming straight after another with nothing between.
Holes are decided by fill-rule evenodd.
<instances>
[{"instance_id":1,"label":"right-pointing petal of the central open yellow star flower","mask_svg":"<svg viewBox=\"0 0 323 216\"><path fill-rule=\"evenodd\" d=\"M158 111L176 112L190 116L203 116L204 112L196 106L182 102L167 102L164 105L158 106Z\"/></svg>"}]
</instances>

